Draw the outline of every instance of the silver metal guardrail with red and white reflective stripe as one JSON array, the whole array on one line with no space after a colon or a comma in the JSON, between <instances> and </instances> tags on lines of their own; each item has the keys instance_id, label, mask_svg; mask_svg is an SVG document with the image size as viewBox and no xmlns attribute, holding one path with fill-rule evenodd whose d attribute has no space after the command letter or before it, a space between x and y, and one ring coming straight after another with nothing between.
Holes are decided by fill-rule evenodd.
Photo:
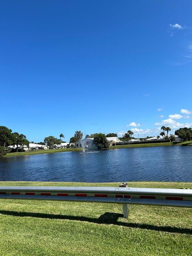
<instances>
[{"instance_id":1,"label":"silver metal guardrail with red and white reflective stripe","mask_svg":"<svg viewBox=\"0 0 192 256\"><path fill-rule=\"evenodd\" d=\"M0 199L116 203L124 218L130 204L192 208L192 190L164 188L0 186Z\"/></svg>"}]
</instances>

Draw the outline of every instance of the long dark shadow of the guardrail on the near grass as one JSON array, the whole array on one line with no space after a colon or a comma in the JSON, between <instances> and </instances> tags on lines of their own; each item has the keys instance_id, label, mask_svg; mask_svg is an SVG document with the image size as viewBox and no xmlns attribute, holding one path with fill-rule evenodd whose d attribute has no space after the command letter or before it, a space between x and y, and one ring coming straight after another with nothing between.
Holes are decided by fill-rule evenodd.
<instances>
[{"instance_id":1,"label":"long dark shadow of the guardrail on the near grass","mask_svg":"<svg viewBox=\"0 0 192 256\"><path fill-rule=\"evenodd\" d=\"M180 234L192 234L192 229L190 228L178 228L173 226L156 226L151 224L139 224L132 222L121 222L118 221L118 218L122 218L123 214L106 212L102 214L99 218L90 218L85 216L71 216L71 215L61 215L61 214L46 214L46 213L37 213L37 212L14 212L0 210L0 214L18 216L18 217L35 217L35 218L48 218L48 219L62 219L62 220L78 220L92 222L96 224L114 224L117 226L124 226L127 228L140 228L148 229L162 232L170 233L180 233Z\"/></svg>"}]
</instances>

